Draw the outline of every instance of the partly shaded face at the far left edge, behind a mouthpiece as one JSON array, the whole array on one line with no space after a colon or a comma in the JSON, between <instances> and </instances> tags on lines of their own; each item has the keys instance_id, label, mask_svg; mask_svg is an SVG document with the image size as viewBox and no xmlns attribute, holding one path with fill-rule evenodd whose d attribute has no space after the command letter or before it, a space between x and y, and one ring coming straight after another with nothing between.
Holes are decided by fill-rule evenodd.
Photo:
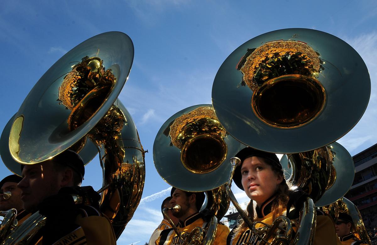
<instances>
[{"instance_id":1,"label":"partly shaded face at the far left edge, behind a mouthpiece","mask_svg":"<svg viewBox=\"0 0 377 245\"><path fill-rule=\"evenodd\" d=\"M3 194L0 194L0 211L6 211L11 208L15 208L20 211L23 208L21 201L21 189L17 188L15 182L5 182L1 188L2 191L10 191L12 196L8 199L4 199Z\"/></svg>"}]
</instances>

